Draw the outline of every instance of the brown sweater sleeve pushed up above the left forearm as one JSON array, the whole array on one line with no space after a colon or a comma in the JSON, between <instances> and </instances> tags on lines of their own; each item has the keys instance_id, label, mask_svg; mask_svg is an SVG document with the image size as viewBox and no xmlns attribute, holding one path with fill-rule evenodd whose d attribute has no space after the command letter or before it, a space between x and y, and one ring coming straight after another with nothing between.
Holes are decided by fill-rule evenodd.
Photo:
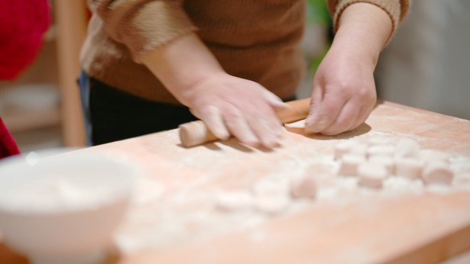
<instances>
[{"instance_id":1,"label":"brown sweater sleeve pushed up above the left forearm","mask_svg":"<svg viewBox=\"0 0 470 264\"><path fill-rule=\"evenodd\" d=\"M102 19L104 30L126 45L136 62L175 38L194 32L181 0L89 0L89 7Z\"/></svg>"}]
</instances>

